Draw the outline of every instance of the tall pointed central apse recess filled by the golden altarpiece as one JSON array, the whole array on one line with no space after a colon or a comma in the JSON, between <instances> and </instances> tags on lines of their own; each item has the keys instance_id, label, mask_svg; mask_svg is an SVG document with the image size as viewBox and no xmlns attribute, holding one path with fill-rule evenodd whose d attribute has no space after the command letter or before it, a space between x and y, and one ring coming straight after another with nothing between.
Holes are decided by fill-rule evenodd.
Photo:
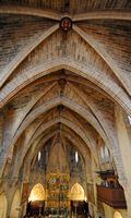
<instances>
[{"instance_id":1,"label":"tall pointed central apse recess filled by the golden altarpiece","mask_svg":"<svg viewBox=\"0 0 131 218\"><path fill-rule=\"evenodd\" d=\"M70 173L66 149L60 135L52 144L46 174L45 209L51 214L66 214L70 210Z\"/></svg>"}]
</instances>

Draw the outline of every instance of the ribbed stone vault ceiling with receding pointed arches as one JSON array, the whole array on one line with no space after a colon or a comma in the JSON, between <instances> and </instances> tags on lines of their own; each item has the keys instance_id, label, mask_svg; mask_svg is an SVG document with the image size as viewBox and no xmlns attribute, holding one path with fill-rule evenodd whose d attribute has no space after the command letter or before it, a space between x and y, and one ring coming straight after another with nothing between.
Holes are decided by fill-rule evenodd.
<instances>
[{"instance_id":1,"label":"ribbed stone vault ceiling with receding pointed arches","mask_svg":"<svg viewBox=\"0 0 131 218\"><path fill-rule=\"evenodd\" d=\"M98 137L114 157L115 107L131 113L130 1L0 3L1 175L14 161L19 177L58 132L84 159L98 161Z\"/></svg>"}]
</instances>

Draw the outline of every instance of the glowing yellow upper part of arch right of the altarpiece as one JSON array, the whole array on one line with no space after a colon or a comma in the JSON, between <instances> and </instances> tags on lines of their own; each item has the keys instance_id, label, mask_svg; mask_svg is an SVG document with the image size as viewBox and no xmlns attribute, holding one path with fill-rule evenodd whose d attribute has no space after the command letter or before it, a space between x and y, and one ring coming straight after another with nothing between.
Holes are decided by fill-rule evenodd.
<instances>
[{"instance_id":1,"label":"glowing yellow upper part of arch right of the altarpiece","mask_svg":"<svg viewBox=\"0 0 131 218\"><path fill-rule=\"evenodd\" d=\"M84 201L85 199L84 189L81 184L75 183L71 187L70 199L71 201Z\"/></svg>"}]
</instances>

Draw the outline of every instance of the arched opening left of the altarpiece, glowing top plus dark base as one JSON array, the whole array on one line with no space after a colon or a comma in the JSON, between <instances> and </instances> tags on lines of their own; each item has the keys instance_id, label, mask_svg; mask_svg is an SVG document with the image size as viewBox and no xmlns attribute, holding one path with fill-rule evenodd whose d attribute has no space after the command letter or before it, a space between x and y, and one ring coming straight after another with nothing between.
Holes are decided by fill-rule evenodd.
<instances>
[{"instance_id":1,"label":"arched opening left of the altarpiece, glowing top plus dark base","mask_svg":"<svg viewBox=\"0 0 131 218\"><path fill-rule=\"evenodd\" d=\"M26 214L29 214L29 216L39 214L44 215L44 206L45 190L40 183L37 183L31 191Z\"/></svg>"}]
</instances>

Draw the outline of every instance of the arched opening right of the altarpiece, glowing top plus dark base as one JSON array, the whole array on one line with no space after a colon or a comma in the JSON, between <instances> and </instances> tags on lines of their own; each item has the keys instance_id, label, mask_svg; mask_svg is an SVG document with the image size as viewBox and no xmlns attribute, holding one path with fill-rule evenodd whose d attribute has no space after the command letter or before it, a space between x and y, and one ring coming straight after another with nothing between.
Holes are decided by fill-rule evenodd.
<instances>
[{"instance_id":1,"label":"arched opening right of the altarpiece, glowing top plus dark base","mask_svg":"<svg viewBox=\"0 0 131 218\"><path fill-rule=\"evenodd\" d=\"M73 216L81 216L85 217L88 213L88 206L85 202L85 193L84 189L81 184L75 183L70 193L70 199L71 199L71 214Z\"/></svg>"}]
</instances>

